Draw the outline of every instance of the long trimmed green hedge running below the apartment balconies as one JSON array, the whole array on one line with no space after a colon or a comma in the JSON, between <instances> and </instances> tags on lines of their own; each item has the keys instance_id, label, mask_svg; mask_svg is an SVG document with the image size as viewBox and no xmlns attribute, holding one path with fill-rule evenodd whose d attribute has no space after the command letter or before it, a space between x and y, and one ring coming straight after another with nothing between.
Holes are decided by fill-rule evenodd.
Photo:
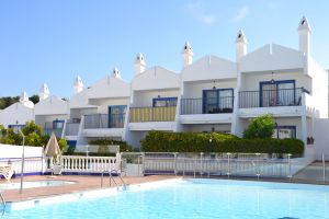
<instances>
[{"instance_id":1,"label":"long trimmed green hedge running below the apartment balconies","mask_svg":"<svg viewBox=\"0 0 329 219\"><path fill-rule=\"evenodd\" d=\"M149 131L140 141L145 152L240 152L292 153L302 155L304 142L298 139L245 139L218 132Z\"/></svg>"}]
</instances>

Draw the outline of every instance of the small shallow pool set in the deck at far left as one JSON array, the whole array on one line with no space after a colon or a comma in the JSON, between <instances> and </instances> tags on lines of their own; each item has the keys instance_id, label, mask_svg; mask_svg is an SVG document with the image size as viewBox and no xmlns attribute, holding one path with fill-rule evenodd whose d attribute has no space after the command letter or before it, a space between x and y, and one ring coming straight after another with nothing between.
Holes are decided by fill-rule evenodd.
<instances>
[{"instance_id":1,"label":"small shallow pool set in the deck at far left","mask_svg":"<svg viewBox=\"0 0 329 219\"><path fill-rule=\"evenodd\" d=\"M45 187L45 186L58 186L58 185L69 185L75 184L75 182L70 181L30 181L24 182L24 188L33 188L33 187ZM21 183L2 183L0 184L0 191L8 189L18 189L20 188Z\"/></svg>"}]
</instances>

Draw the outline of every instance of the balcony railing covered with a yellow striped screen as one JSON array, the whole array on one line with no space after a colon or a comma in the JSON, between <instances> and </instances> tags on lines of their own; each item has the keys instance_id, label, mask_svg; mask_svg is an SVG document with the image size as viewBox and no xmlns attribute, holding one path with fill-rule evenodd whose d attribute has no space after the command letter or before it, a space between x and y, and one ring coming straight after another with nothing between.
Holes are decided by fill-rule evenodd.
<instances>
[{"instance_id":1,"label":"balcony railing covered with a yellow striped screen","mask_svg":"<svg viewBox=\"0 0 329 219\"><path fill-rule=\"evenodd\" d=\"M175 106L131 107L131 123L174 120Z\"/></svg>"}]
</instances>

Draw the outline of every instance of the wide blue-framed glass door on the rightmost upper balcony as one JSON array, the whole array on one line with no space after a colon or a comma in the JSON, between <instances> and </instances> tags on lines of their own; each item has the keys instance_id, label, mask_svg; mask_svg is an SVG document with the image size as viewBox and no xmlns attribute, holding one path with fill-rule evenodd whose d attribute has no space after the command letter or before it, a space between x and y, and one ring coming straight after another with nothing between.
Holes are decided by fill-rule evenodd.
<instances>
[{"instance_id":1,"label":"wide blue-framed glass door on the rightmost upper balcony","mask_svg":"<svg viewBox=\"0 0 329 219\"><path fill-rule=\"evenodd\" d=\"M261 81L260 107L296 105L295 80Z\"/></svg>"}]
</instances>

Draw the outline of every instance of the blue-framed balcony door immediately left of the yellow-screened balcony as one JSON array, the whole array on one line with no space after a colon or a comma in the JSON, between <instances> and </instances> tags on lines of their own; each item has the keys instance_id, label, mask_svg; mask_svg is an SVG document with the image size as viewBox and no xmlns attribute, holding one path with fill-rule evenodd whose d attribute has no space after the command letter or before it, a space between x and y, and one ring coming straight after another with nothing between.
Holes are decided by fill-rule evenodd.
<instances>
[{"instance_id":1,"label":"blue-framed balcony door immediately left of the yellow-screened balcony","mask_svg":"<svg viewBox=\"0 0 329 219\"><path fill-rule=\"evenodd\" d=\"M123 128L127 105L109 106L109 128Z\"/></svg>"}]
</instances>

